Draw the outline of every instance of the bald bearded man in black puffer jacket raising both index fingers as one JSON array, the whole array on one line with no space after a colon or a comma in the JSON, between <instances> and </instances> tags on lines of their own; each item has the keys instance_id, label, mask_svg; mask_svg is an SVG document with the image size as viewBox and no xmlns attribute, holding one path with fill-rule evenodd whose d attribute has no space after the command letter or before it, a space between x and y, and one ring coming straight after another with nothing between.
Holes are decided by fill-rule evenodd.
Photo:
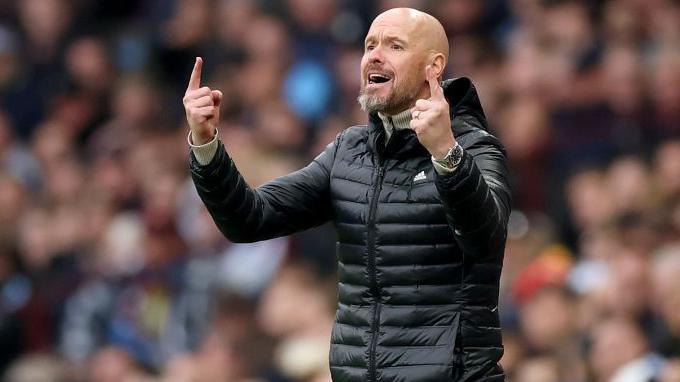
<instances>
[{"instance_id":1,"label":"bald bearded man in black puffer jacket raising both index fingers","mask_svg":"<svg viewBox=\"0 0 680 382\"><path fill-rule=\"evenodd\" d=\"M505 154L471 82L440 86L447 59L434 17L406 8L379 15L361 62L368 125L257 189L216 137L222 93L200 87L200 58L191 75L191 173L222 232L249 242L335 223L336 382L504 379Z\"/></svg>"}]
</instances>

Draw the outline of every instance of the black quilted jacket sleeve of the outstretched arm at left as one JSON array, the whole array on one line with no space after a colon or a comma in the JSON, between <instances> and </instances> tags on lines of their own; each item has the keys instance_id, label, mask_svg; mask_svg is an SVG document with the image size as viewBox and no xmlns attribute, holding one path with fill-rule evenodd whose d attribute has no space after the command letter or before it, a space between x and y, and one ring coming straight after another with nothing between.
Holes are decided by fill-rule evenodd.
<instances>
[{"instance_id":1,"label":"black quilted jacket sleeve of the outstretched arm at left","mask_svg":"<svg viewBox=\"0 0 680 382\"><path fill-rule=\"evenodd\" d=\"M289 235L331 218L330 171L339 137L306 167L255 189L238 172L222 142L205 166L189 154L191 177L229 240L243 243Z\"/></svg>"}]
</instances>

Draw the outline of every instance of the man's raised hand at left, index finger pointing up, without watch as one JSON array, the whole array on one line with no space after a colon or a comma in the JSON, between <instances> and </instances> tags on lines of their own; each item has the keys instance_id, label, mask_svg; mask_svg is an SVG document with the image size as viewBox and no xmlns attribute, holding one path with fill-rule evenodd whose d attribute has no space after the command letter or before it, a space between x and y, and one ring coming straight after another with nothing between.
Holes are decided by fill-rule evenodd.
<instances>
[{"instance_id":1,"label":"man's raised hand at left, index finger pointing up, without watch","mask_svg":"<svg viewBox=\"0 0 680 382\"><path fill-rule=\"evenodd\" d=\"M220 122L220 103L222 92L201 87L201 70L203 59L196 57L194 70L189 78L187 91L184 93L184 110L191 129L191 140L195 145L210 142L215 137Z\"/></svg>"}]
</instances>

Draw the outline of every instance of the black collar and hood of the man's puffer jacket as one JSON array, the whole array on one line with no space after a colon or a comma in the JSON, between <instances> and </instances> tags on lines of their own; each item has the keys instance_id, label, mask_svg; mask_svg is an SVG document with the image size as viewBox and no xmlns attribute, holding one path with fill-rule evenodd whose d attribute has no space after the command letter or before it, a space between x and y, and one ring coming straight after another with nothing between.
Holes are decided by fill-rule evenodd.
<instances>
[{"instance_id":1,"label":"black collar and hood of the man's puffer jacket","mask_svg":"<svg viewBox=\"0 0 680 382\"><path fill-rule=\"evenodd\" d=\"M486 118L477 90L467 77L448 79L442 82L444 97L449 103L451 128L458 135L469 126L457 123L456 117L469 115L481 122L481 127L487 130ZM368 115L368 142L372 152L385 157L429 156L429 153L418 141L418 137L411 129L393 132L387 146L385 146L385 128L378 113Z\"/></svg>"}]
</instances>

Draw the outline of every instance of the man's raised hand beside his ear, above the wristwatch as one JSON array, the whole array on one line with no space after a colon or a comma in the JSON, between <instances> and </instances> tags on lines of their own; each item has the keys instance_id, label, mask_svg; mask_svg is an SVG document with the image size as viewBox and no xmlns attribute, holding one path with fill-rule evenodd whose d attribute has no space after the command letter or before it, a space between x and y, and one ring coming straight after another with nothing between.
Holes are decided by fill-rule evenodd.
<instances>
[{"instance_id":1,"label":"man's raised hand beside his ear, above the wristwatch","mask_svg":"<svg viewBox=\"0 0 680 382\"><path fill-rule=\"evenodd\" d=\"M430 98L417 100L411 109L411 129L433 157L442 159L456 143L451 131L449 103L446 102L434 68L428 65L425 73L430 84Z\"/></svg>"}]
</instances>

